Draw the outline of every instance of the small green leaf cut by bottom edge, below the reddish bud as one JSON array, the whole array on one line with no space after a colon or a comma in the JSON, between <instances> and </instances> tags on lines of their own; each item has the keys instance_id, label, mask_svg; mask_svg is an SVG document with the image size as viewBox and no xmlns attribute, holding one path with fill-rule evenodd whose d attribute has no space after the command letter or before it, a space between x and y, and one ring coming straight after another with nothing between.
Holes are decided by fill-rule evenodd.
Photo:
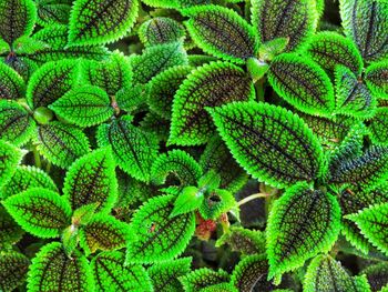
<instances>
[{"instance_id":1,"label":"small green leaf cut by bottom edge, below the reddish bud","mask_svg":"<svg viewBox=\"0 0 388 292\"><path fill-rule=\"evenodd\" d=\"M185 292L196 292L203 288L229 282L229 275L223 270L213 271L208 268L202 268L180 278Z\"/></svg>"}]
</instances>

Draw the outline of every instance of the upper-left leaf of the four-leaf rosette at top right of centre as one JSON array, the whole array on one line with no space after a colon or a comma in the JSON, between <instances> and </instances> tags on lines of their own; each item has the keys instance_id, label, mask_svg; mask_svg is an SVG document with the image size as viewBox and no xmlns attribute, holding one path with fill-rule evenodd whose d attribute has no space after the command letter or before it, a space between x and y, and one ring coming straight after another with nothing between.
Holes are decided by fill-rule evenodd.
<instances>
[{"instance_id":1,"label":"upper-left leaf of the four-leaf rosette at top right of centre","mask_svg":"<svg viewBox=\"0 0 388 292\"><path fill-rule=\"evenodd\" d=\"M181 11L190 17L187 30L205 52L244 63L258 50L254 29L235 11L221 6L200 6Z\"/></svg>"}]
</instances>

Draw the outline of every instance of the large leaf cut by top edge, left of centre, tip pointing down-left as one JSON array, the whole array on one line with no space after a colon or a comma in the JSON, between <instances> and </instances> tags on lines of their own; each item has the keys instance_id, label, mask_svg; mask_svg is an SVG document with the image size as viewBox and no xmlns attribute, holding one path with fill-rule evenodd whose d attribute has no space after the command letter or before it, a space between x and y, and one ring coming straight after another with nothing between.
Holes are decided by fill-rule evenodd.
<instances>
[{"instance_id":1,"label":"large leaf cut by top edge, left of centre, tip pointing down-left","mask_svg":"<svg viewBox=\"0 0 388 292\"><path fill-rule=\"evenodd\" d=\"M75 0L69 21L69 43L103 44L122 39L133 27L137 0Z\"/></svg>"}]
</instances>

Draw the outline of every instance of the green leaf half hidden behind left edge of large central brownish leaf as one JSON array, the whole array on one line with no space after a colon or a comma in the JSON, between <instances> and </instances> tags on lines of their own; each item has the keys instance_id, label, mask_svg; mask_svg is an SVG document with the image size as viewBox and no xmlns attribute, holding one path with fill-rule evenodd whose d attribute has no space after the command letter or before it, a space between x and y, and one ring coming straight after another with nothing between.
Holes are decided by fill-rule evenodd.
<instances>
[{"instance_id":1,"label":"green leaf half hidden behind left edge of large central brownish leaf","mask_svg":"<svg viewBox=\"0 0 388 292\"><path fill-rule=\"evenodd\" d=\"M150 82L147 103L159 115L170 119L174 95L192 71L188 66L172 67L154 77Z\"/></svg>"}]
</instances>

